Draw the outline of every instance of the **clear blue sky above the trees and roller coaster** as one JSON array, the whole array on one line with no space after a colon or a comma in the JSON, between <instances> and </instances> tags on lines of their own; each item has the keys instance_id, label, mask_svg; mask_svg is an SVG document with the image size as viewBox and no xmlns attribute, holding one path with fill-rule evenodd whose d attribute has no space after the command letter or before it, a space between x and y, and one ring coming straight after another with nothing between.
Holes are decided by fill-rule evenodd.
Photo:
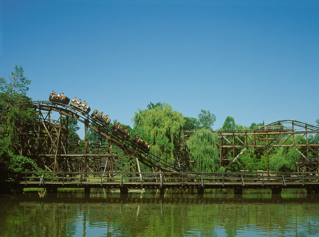
<instances>
[{"instance_id":1,"label":"clear blue sky above the trees and roller coaster","mask_svg":"<svg viewBox=\"0 0 319 237\"><path fill-rule=\"evenodd\" d=\"M150 101L210 110L213 129L315 123L319 1L0 0L0 76L15 64L32 99L64 92L130 126Z\"/></svg>"}]
</instances>

